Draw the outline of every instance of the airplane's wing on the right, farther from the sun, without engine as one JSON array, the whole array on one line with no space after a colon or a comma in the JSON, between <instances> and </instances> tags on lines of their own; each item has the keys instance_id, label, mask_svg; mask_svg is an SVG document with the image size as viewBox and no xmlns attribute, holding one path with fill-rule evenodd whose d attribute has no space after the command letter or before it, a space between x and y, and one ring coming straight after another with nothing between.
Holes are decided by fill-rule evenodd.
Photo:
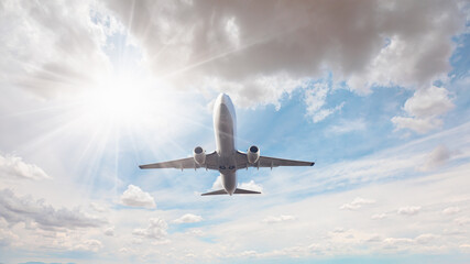
<instances>
[{"instance_id":1,"label":"airplane's wing on the right, farther from the sun, without engine","mask_svg":"<svg viewBox=\"0 0 470 264\"><path fill-rule=\"evenodd\" d=\"M314 166L313 162L300 162L293 160L284 160L277 157L260 156L256 163L249 164L247 154L237 152L237 168L245 167L281 167L281 166Z\"/></svg>"}]
</instances>

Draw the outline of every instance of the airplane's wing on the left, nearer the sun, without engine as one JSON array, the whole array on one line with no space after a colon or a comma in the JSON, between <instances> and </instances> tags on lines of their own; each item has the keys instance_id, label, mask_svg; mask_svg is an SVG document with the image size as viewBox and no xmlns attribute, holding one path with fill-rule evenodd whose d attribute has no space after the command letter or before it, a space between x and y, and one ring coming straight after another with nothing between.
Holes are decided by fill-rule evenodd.
<instances>
[{"instance_id":1,"label":"airplane's wing on the left, nearer the sun, without engine","mask_svg":"<svg viewBox=\"0 0 470 264\"><path fill-rule=\"evenodd\" d=\"M212 152L206 155L206 163L203 165L197 164L193 157L186 157L175 161L162 162L162 163L152 163L146 165L140 165L140 168L207 168L207 169L218 169L218 158L217 153Z\"/></svg>"}]
</instances>

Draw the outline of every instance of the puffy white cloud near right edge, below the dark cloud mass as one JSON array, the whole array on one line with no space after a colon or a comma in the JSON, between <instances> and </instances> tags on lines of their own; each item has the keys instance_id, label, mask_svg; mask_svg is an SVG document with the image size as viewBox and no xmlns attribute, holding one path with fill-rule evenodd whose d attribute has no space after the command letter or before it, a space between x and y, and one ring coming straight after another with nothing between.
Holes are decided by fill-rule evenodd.
<instances>
[{"instance_id":1,"label":"puffy white cloud near right edge, below the dark cloud mass","mask_svg":"<svg viewBox=\"0 0 470 264\"><path fill-rule=\"evenodd\" d=\"M409 129L417 133L426 133L440 128L442 120L439 118L453 108L446 88L431 86L417 90L412 98L406 100L404 110L408 117L394 117L392 122L396 129Z\"/></svg>"}]
</instances>

